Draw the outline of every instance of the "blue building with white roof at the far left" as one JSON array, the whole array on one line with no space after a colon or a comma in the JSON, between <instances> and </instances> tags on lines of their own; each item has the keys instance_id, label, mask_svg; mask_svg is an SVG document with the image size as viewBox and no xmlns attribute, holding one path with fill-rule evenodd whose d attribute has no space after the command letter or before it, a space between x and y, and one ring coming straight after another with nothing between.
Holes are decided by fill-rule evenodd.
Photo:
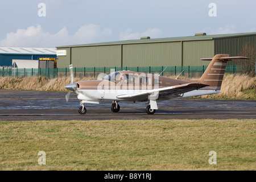
<instances>
[{"instance_id":1,"label":"blue building with white roof at the far left","mask_svg":"<svg viewBox=\"0 0 256 182\"><path fill-rule=\"evenodd\" d=\"M56 59L56 48L0 47L1 67L10 67L13 65L13 60L39 60L40 58Z\"/></svg>"}]
</instances>

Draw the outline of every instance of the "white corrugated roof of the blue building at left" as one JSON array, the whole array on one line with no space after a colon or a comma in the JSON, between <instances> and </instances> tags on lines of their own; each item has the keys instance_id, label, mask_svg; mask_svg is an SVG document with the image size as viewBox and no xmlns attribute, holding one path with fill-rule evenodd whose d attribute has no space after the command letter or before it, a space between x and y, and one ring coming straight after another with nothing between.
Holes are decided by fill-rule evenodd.
<instances>
[{"instance_id":1,"label":"white corrugated roof of the blue building at left","mask_svg":"<svg viewBox=\"0 0 256 182\"><path fill-rule=\"evenodd\" d=\"M0 53L6 54L56 55L56 50L56 48L0 47Z\"/></svg>"}]
</instances>

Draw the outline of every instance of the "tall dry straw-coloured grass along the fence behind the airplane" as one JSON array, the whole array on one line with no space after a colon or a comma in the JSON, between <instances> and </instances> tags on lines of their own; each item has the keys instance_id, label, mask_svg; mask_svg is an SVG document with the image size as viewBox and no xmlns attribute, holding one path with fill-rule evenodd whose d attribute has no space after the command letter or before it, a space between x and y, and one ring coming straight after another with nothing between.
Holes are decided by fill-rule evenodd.
<instances>
[{"instance_id":1,"label":"tall dry straw-coloured grass along the fence behind the airplane","mask_svg":"<svg viewBox=\"0 0 256 182\"><path fill-rule=\"evenodd\" d=\"M186 77L179 78L188 80ZM94 79L94 77L76 77L74 81ZM198 80L198 78L189 78L189 80ZM0 89L67 92L64 86L69 83L69 77L59 77L54 79L48 79L42 76L24 78L0 77ZM250 77L248 75L225 75L220 94L201 96L199 98L256 100L256 77Z\"/></svg>"}]
</instances>

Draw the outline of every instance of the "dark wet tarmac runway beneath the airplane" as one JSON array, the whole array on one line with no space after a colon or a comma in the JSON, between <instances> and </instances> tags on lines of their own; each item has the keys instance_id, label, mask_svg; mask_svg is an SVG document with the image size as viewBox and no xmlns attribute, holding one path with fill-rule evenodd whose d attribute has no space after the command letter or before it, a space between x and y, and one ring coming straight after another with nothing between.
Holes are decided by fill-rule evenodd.
<instances>
[{"instance_id":1,"label":"dark wet tarmac runway beneath the airplane","mask_svg":"<svg viewBox=\"0 0 256 182\"><path fill-rule=\"evenodd\" d=\"M75 93L69 102L64 92L0 90L0 121L105 120L105 119L256 119L256 101L174 99L158 102L155 114L146 113L145 102L119 102L118 113L110 109L112 101L85 105L87 113L78 113Z\"/></svg>"}]
</instances>

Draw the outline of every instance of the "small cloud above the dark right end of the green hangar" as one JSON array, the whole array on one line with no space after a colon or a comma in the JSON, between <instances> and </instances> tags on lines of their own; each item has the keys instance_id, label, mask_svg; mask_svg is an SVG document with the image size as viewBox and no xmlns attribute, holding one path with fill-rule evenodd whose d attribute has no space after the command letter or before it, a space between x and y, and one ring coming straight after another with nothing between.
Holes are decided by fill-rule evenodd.
<instances>
[{"instance_id":1,"label":"small cloud above the dark right end of the green hangar","mask_svg":"<svg viewBox=\"0 0 256 182\"><path fill-rule=\"evenodd\" d=\"M201 32L207 32L207 35L218 35L218 34L236 34L236 26L234 24L225 27L204 28Z\"/></svg>"}]
</instances>

